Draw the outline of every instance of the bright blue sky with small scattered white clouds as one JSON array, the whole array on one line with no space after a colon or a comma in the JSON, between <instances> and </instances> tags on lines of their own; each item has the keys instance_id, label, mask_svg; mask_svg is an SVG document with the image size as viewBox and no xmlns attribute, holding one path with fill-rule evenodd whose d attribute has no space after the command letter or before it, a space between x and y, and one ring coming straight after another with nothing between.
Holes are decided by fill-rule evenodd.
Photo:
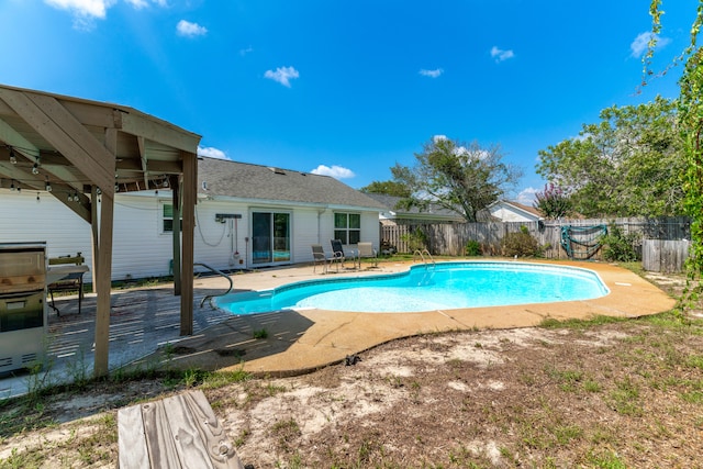
<instances>
[{"instance_id":1,"label":"bright blue sky with small scattered white clouds","mask_svg":"<svg viewBox=\"0 0 703 469\"><path fill-rule=\"evenodd\" d=\"M655 68L698 0L663 0ZM537 152L602 109L678 96L641 80L649 0L1 0L0 82L130 105L200 153L361 188L436 135L500 145L531 203ZM643 36L645 34L645 36Z\"/></svg>"}]
</instances>

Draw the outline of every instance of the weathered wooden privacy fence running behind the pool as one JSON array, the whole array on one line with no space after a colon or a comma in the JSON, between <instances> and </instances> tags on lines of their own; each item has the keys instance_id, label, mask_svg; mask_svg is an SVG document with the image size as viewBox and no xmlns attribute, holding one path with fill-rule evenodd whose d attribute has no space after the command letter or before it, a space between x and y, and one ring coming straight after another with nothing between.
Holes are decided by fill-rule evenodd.
<instances>
[{"instance_id":1,"label":"weathered wooden privacy fence running behind the pool","mask_svg":"<svg viewBox=\"0 0 703 469\"><path fill-rule=\"evenodd\" d=\"M381 226L381 246L392 246L399 253L412 252L411 239L414 233L422 233L429 253L433 255L464 256L469 241L478 242L484 256L500 256L501 242L507 233L522 230L537 239L544 249L544 257L548 259L566 259L567 252L561 246L562 230L571 227L571 236L580 238L584 244L595 243L600 236L598 230L589 227L606 226L609 232L616 225L623 236L632 237L634 248L644 256L644 242L680 241L690 238L690 219L677 217L621 217L621 219L588 219L588 220L546 220L539 222L486 222L486 223L455 223L455 224L404 224ZM583 230L578 230L583 228ZM592 238L589 239L588 237ZM648 244L649 246L649 244ZM662 244L658 247L657 256L669 258L668 252L673 244ZM654 247L652 247L654 248ZM646 249L649 249L647 247ZM676 247L679 249L679 247ZM666 253L666 254L665 254ZM673 255L679 256L679 254ZM595 249L590 259L602 259L602 249ZM676 263L674 263L676 264ZM661 265L661 261L659 261ZM665 260L666 266L673 265Z\"/></svg>"}]
</instances>

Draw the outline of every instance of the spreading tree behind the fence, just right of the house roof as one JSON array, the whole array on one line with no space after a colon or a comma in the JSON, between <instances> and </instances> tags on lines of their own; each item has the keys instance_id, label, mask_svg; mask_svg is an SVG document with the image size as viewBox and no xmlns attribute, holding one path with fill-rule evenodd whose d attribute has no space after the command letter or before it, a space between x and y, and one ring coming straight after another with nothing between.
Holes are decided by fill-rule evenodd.
<instances>
[{"instance_id":1,"label":"spreading tree behind the fence, just right of the house roof","mask_svg":"<svg viewBox=\"0 0 703 469\"><path fill-rule=\"evenodd\" d=\"M395 164L391 172L394 181L411 190L403 200L405 208L424 210L436 203L475 222L480 211L503 197L522 176L502 158L499 146L482 148L476 142L464 144L438 136L415 154L413 167Z\"/></svg>"}]
</instances>

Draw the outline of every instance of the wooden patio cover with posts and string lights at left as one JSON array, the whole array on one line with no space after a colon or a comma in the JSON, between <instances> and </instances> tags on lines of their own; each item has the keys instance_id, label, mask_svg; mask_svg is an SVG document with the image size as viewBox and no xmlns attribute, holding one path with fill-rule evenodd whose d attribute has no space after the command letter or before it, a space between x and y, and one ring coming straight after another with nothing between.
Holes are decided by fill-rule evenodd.
<instances>
[{"instance_id":1,"label":"wooden patio cover with posts and string lights at left","mask_svg":"<svg viewBox=\"0 0 703 469\"><path fill-rule=\"evenodd\" d=\"M49 191L91 226L94 376L108 373L115 192L171 189L180 333L192 334L200 138L129 107L0 85L0 187Z\"/></svg>"}]
</instances>

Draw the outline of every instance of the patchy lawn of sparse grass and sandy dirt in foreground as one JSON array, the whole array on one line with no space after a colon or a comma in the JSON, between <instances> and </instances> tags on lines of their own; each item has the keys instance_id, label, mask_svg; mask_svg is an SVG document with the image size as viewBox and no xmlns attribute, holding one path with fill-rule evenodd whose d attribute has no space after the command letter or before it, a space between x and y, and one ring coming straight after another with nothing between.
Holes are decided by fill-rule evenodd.
<instances>
[{"instance_id":1,"label":"patchy lawn of sparse grass and sandy dirt in foreground","mask_svg":"<svg viewBox=\"0 0 703 469\"><path fill-rule=\"evenodd\" d=\"M455 332L395 340L350 366L203 388L255 468L700 467L702 334L701 321L671 314ZM167 384L47 397L36 405L63 423L0 429L0 468L114 467L109 409L179 390ZM11 403L0 412L0 428L21 427Z\"/></svg>"}]
</instances>

